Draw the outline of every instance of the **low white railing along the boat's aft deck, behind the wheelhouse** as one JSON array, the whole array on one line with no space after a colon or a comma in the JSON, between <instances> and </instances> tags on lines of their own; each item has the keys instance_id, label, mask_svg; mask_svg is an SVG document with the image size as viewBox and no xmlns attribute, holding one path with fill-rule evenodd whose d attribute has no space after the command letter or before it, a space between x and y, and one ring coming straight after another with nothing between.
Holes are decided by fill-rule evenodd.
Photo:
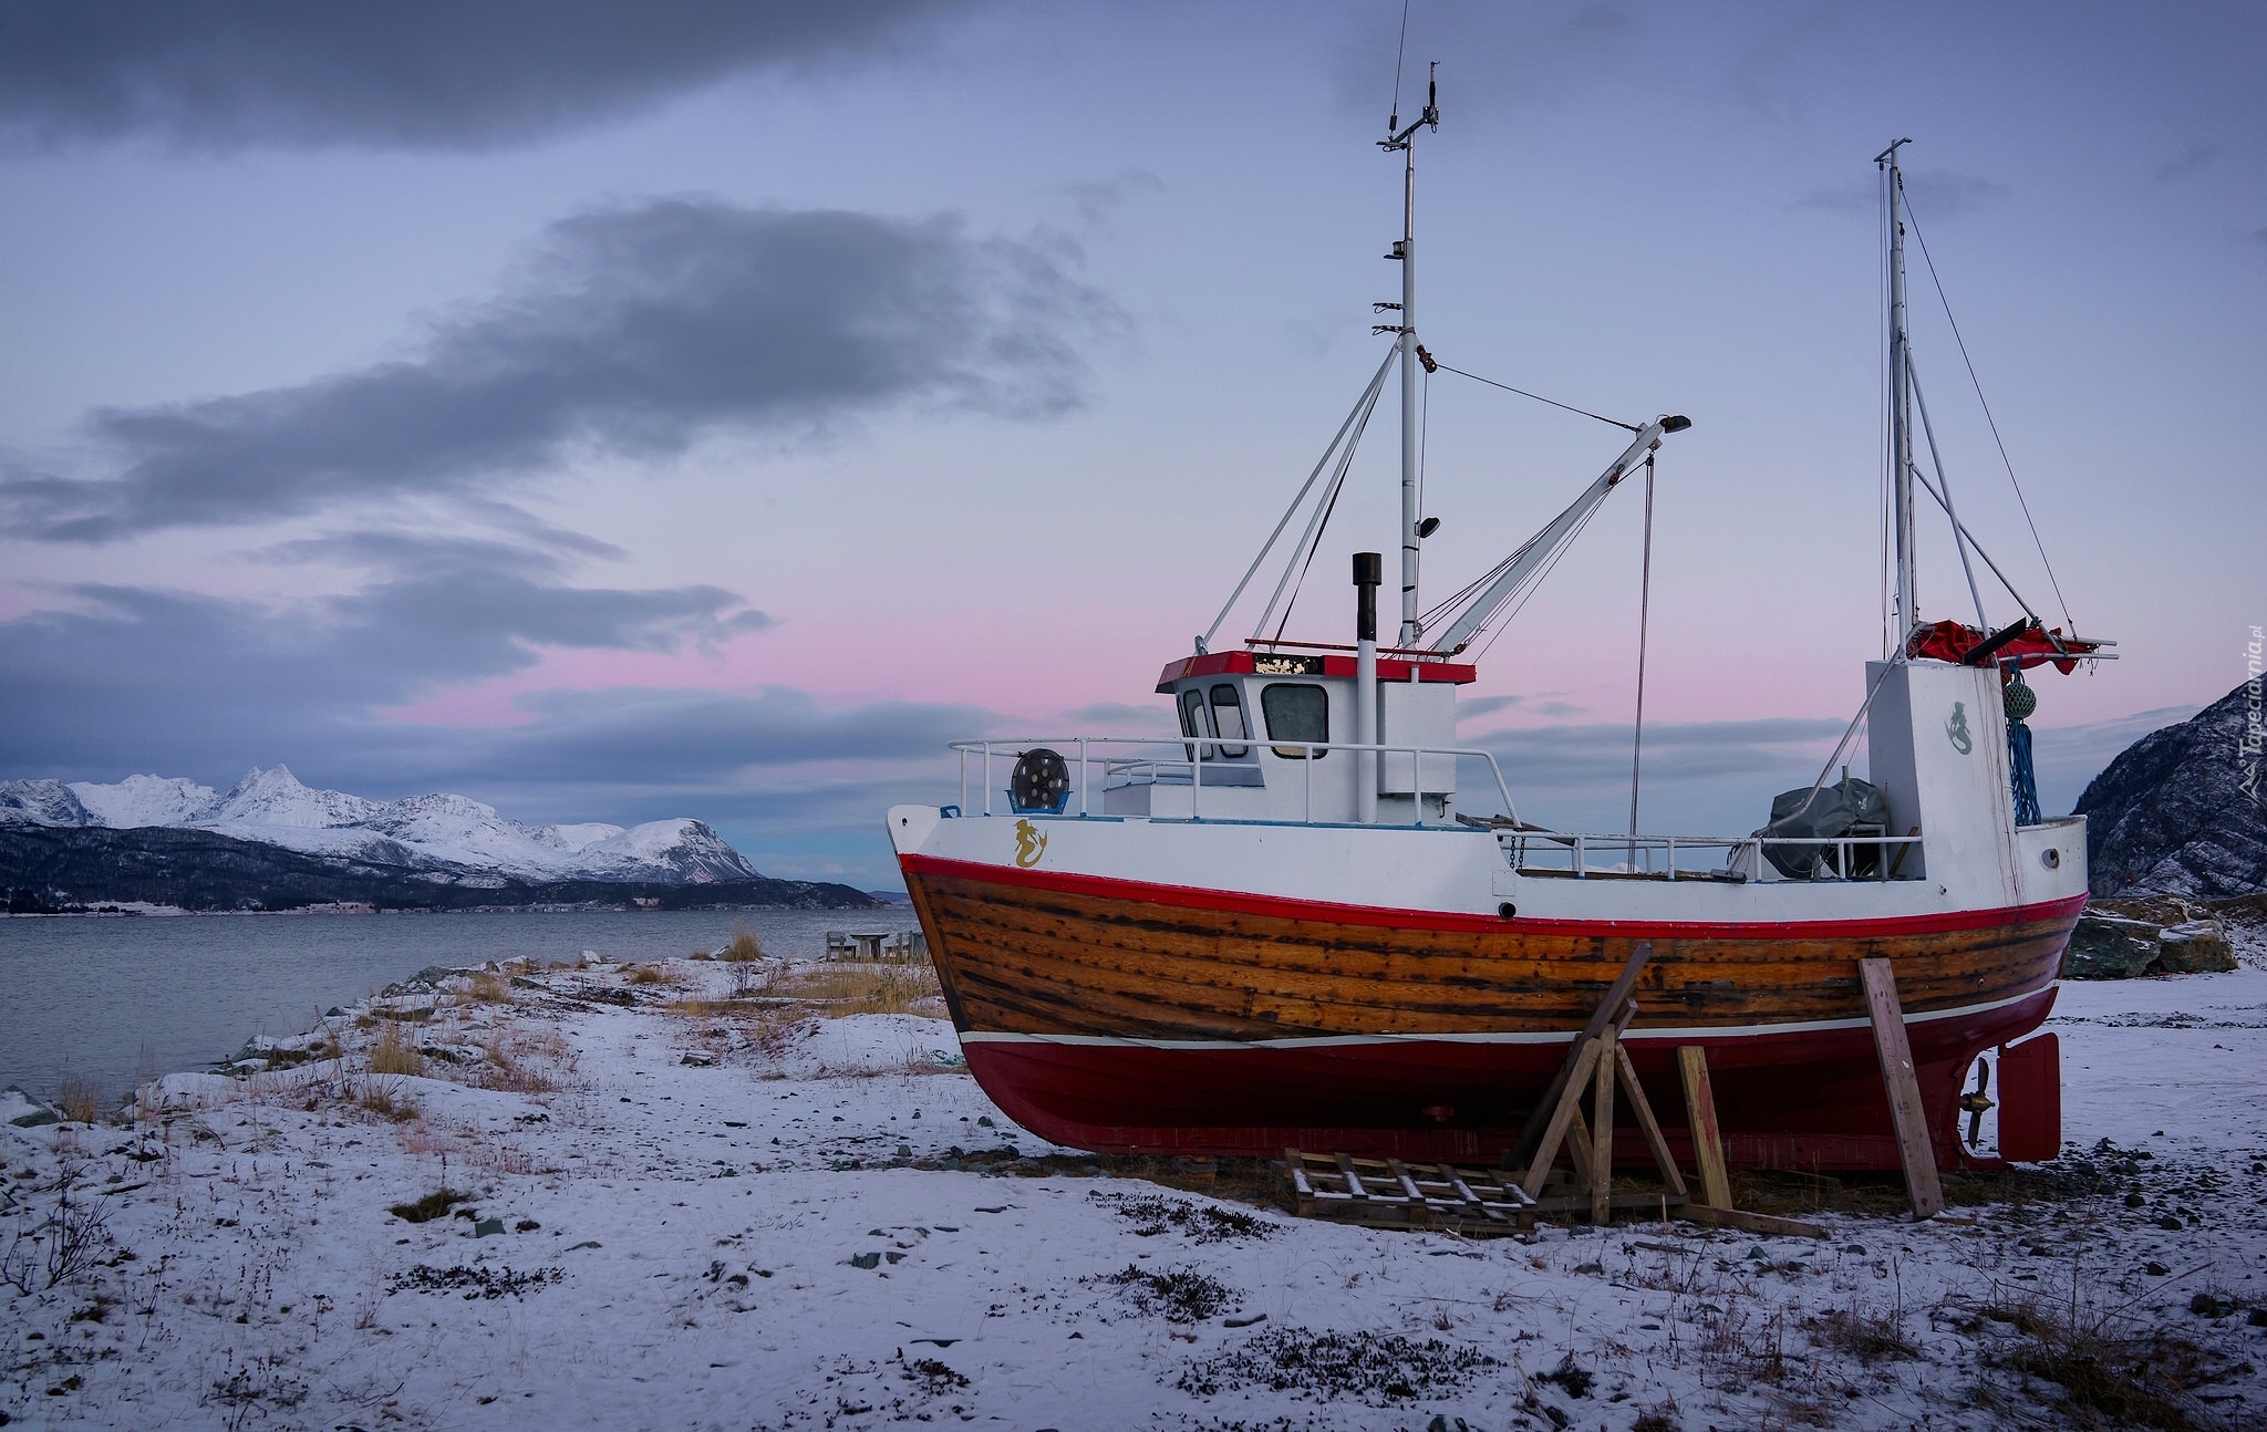
<instances>
[{"instance_id":1,"label":"low white railing along the boat's aft deck, behind the wheelhouse","mask_svg":"<svg viewBox=\"0 0 2267 1432\"><path fill-rule=\"evenodd\" d=\"M1496 841L1519 875L1662 881L1771 879L1766 870L1777 872L1777 868L1766 868L1766 850L1798 850L1809 856L1811 875L1782 875L1780 879L1900 879L1907 861L1920 854L1922 845L1918 832L1909 836L1630 836L1505 829L1498 832ZM1678 866L1680 854L1696 856L1718 850L1725 852L1723 866L1700 870ZM1863 859L1866 854L1873 859Z\"/></svg>"}]
</instances>

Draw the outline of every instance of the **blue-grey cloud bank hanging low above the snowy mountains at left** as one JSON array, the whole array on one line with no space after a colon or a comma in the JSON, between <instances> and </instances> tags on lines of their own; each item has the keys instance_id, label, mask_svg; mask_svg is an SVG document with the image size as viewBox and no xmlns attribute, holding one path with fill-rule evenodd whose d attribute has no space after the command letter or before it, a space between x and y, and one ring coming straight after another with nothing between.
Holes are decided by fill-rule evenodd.
<instances>
[{"instance_id":1,"label":"blue-grey cloud bank hanging low above the snowy mountains at left","mask_svg":"<svg viewBox=\"0 0 2267 1432\"><path fill-rule=\"evenodd\" d=\"M299 555L345 546L381 571L342 596L265 607L84 585L68 607L0 621L0 768L222 777L317 752L370 768L431 743L379 711L524 671L546 648L714 648L771 625L719 587L571 587L555 557L476 542L372 535Z\"/></svg>"}]
</instances>

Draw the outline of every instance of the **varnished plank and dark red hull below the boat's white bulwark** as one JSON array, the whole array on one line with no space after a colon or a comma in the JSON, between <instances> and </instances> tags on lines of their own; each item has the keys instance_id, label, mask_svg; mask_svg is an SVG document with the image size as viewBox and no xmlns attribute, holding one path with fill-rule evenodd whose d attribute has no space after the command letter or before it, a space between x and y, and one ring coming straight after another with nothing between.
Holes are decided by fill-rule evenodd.
<instances>
[{"instance_id":1,"label":"varnished plank and dark red hull below the boat's white bulwark","mask_svg":"<svg viewBox=\"0 0 2267 1432\"><path fill-rule=\"evenodd\" d=\"M1857 979L1886 956L1950 1167L1961 1072L2047 1017L2083 906L1635 924L902 868L975 1076L1022 1126L1095 1151L1489 1158L1650 938L1628 1045L1664 1117L1673 1049L1705 1045L1732 1162L1897 1167Z\"/></svg>"}]
</instances>

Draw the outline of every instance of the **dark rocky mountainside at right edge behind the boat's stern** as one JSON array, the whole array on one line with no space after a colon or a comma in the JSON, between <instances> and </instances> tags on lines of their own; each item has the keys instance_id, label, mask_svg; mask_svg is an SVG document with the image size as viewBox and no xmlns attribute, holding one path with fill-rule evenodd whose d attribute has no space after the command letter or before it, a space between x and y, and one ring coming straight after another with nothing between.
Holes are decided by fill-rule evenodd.
<instances>
[{"instance_id":1,"label":"dark rocky mountainside at right edge behind the boat's stern","mask_svg":"<svg viewBox=\"0 0 2267 1432\"><path fill-rule=\"evenodd\" d=\"M2095 895L2228 900L2267 890L2253 687L2129 745L2079 798ZM2256 732L2251 732L2256 741Z\"/></svg>"}]
</instances>

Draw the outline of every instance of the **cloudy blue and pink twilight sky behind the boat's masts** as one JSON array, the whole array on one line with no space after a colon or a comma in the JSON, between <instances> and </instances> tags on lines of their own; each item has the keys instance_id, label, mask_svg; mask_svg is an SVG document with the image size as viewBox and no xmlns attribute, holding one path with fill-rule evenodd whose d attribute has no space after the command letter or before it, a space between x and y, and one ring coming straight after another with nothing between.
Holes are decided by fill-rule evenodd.
<instances>
[{"instance_id":1,"label":"cloudy blue and pink twilight sky behind the boat's masts","mask_svg":"<svg viewBox=\"0 0 2267 1432\"><path fill-rule=\"evenodd\" d=\"M945 739L1168 721L1158 666L1383 358L1399 20L0 0L0 777L283 761L891 884L880 813L950 800ZM2262 57L2256 5L1412 2L1428 349L1693 417L1648 825L1759 825L1863 696L1902 136L1963 519L2122 643L2033 682L2047 804L2244 677ZM1347 639L1344 553L1394 551L1392 431L1313 639ZM1435 376L1428 591L1621 442ZM1639 519L1625 487L1467 689L1546 825L1625 816ZM1972 621L1922 542L1925 610Z\"/></svg>"}]
</instances>

